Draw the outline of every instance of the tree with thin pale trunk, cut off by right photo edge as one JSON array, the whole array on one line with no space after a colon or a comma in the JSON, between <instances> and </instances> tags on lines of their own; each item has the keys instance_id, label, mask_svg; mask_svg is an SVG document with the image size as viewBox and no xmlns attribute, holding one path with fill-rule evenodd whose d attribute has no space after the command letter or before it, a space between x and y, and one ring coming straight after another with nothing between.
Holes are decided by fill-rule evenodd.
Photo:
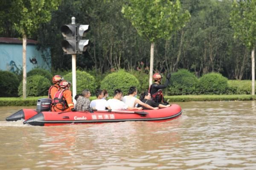
<instances>
[{"instance_id":1,"label":"tree with thin pale trunk, cut off by right photo edge","mask_svg":"<svg viewBox=\"0 0 256 170\"><path fill-rule=\"evenodd\" d=\"M231 25L234 38L238 38L251 50L252 95L255 95L255 46L256 46L256 0L234 0L231 12Z\"/></svg>"}]
</instances>

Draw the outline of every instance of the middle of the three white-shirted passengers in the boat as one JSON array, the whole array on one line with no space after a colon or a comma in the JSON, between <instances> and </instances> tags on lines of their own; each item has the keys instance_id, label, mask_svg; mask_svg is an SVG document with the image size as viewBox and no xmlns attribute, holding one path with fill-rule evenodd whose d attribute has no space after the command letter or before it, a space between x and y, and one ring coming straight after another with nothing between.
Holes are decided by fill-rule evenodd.
<instances>
[{"instance_id":1,"label":"middle of the three white-shirted passengers in the boat","mask_svg":"<svg viewBox=\"0 0 256 170\"><path fill-rule=\"evenodd\" d=\"M130 107L128 105L125 105L124 102L121 101L122 98L122 91L121 89L116 89L114 91L114 97L113 99L108 100L108 105L110 106L111 109L113 110L142 110L142 108L134 108Z\"/></svg>"}]
</instances>

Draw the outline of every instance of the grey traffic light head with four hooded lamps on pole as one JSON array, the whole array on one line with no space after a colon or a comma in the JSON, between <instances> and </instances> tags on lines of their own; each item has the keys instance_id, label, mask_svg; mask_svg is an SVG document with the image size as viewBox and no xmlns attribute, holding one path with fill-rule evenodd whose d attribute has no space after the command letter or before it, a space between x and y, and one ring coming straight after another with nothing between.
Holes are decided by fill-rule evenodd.
<instances>
[{"instance_id":1,"label":"grey traffic light head with four hooded lamps on pole","mask_svg":"<svg viewBox=\"0 0 256 170\"><path fill-rule=\"evenodd\" d=\"M65 54L82 54L90 45L90 40L84 40L86 33L90 31L89 25L69 24L61 26L61 34L64 39L61 46Z\"/></svg>"}]
</instances>

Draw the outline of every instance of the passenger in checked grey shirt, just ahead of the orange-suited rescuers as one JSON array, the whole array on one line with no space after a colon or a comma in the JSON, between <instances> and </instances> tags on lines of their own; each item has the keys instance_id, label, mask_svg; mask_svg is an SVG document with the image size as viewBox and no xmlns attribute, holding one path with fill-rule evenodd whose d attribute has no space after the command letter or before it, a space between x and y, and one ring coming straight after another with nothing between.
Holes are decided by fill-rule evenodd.
<instances>
[{"instance_id":1,"label":"passenger in checked grey shirt, just ahead of the orange-suited rescuers","mask_svg":"<svg viewBox=\"0 0 256 170\"><path fill-rule=\"evenodd\" d=\"M79 96L76 100L76 111L87 111L90 106L90 91L84 89L82 96Z\"/></svg>"}]
</instances>

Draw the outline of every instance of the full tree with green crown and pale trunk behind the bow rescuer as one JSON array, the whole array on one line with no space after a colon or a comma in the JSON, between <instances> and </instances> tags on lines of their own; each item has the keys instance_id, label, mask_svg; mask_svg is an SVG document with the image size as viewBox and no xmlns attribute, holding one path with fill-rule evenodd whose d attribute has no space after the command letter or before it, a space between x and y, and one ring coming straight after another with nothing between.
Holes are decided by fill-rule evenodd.
<instances>
[{"instance_id":1,"label":"full tree with green crown and pale trunk behind the bow rescuer","mask_svg":"<svg viewBox=\"0 0 256 170\"><path fill-rule=\"evenodd\" d=\"M154 43L157 39L169 39L172 33L185 26L188 11L181 11L180 1L130 0L122 7L122 13L136 28L140 36L151 42L149 85L152 84L154 65Z\"/></svg>"}]
</instances>

